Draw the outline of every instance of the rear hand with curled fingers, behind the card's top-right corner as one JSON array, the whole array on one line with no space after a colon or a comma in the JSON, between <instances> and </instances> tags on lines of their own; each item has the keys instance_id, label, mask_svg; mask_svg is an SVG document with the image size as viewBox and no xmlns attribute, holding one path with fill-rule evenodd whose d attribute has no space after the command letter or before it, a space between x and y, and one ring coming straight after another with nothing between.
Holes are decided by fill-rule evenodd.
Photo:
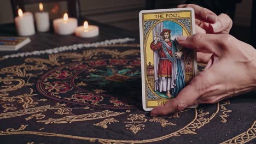
<instances>
[{"instance_id":1,"label":"rear hand with curled fingers, behind the card's top-right corner","mask_svg":"<svg viewBox=\"0 0 256 144\"><path fill-rule=\"evenodd\" d=\"M228 34L232 20L226 14L216 15L211 10L195 4L182 4L178 8L193 8L195 10L196 33ZM207 63L212 53L197 52L197 62Z\"/></svg>"}]
</instances>

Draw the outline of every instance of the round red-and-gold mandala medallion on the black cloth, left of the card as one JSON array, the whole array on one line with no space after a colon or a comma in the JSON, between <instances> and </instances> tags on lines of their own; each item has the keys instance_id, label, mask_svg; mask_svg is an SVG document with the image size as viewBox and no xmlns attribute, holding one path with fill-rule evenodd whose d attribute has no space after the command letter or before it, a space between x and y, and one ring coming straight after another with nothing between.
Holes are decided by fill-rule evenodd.
<instances>
[{"instance_id":1,"label":"round red-and-gold mandala medallion on the black cloth, left of the card","mask_svg":"<svg viewBox=\"0 0 256 144\"><path fill-rule=\"evenodd\" d=\"M132 101L127 103L127 100L112 95L117 91L125 94L138 92L141 66L139 58L134 59L134 56L139 56L139 50L98 49L81 54L54 54L51 61L62 65L44 73L37 81L37 88L46 97L67 103L112 109L134 108ZM73 62L64 64L60 58L65 58L65 61L66 58L72 59ZM126 91L127 88L130 91Z\"/></svg>"}]
</instances>

